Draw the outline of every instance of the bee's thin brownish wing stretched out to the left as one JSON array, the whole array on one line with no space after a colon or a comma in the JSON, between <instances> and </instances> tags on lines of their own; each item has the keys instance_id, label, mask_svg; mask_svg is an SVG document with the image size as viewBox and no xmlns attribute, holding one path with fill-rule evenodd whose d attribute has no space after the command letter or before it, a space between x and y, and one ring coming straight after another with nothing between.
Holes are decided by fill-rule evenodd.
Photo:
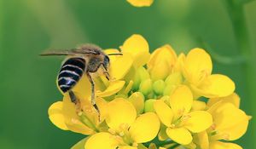
<instances>
[{"instance_id":1,"label":"bee's thin brownish wing stretched out to the left","mask_svg":"<svg viewBox=\"0 0 256 149\"><path fill-rule=\"evenodd\" d=\"M96 54L92 50L84 49L53 49L46 50L40 56L50 56L50 55L76 55L76 54Z\"/></svg>"}]
</instances>

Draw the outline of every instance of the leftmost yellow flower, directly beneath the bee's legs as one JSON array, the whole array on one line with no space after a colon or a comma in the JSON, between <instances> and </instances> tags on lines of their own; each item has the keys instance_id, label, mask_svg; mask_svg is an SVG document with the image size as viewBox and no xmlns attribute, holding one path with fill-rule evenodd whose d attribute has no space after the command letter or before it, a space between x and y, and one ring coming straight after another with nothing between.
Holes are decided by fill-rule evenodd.
<instances>
[{"instance_id":1,"label":"leftmost yellow flower, directly beneath the bee's legs","mask_svg":"<svg viewBox=\"0 0 256 149\"><path fill-rule=\"evenodd\" d=\"M103 78L103 77L102 77ZM96 78L96 80L102 79ZM71 102L69 95L64 95L63 101L58 101L49 107L49 119L58 128L71 130L84 135L91 135L104 129L105 126L100 126L104 120L104 105L106 101L102 97L113 95L119 92L125 85L125 81L115 80L104 86L104 90L100 90L100 86L96 86L96 103L100 108L101 122L98 120L98 113L90 103L90 83L87 77L82 77L79 83L73 88L73 92L79 99L79 105ZM78 109L78 106L80 106ZM81 111L82 110L82 111ZM81 112L80 112L81 111Z\"/></svg>"}]
</instances>

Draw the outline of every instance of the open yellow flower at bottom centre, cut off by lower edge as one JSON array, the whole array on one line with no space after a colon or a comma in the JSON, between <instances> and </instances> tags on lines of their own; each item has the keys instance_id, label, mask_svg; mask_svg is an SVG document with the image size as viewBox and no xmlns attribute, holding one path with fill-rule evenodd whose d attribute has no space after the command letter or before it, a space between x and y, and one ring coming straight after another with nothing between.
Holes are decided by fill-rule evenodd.
<instances>
[{"instance_id":1,"label":"open yellow flower at bottom centre, cut off by lower edge","mask_svg":"<svg viewBox=\"0 0 256 149\"><path fill-rule=\"evenodd\" d=\"M135 107L122 98L108 103L106 123L109 132L92 135L85 143L86 149L137 148L138 144L153 140L160 129L159 119L153 112L137 117Z\"/></svg>"}]
</instances>

